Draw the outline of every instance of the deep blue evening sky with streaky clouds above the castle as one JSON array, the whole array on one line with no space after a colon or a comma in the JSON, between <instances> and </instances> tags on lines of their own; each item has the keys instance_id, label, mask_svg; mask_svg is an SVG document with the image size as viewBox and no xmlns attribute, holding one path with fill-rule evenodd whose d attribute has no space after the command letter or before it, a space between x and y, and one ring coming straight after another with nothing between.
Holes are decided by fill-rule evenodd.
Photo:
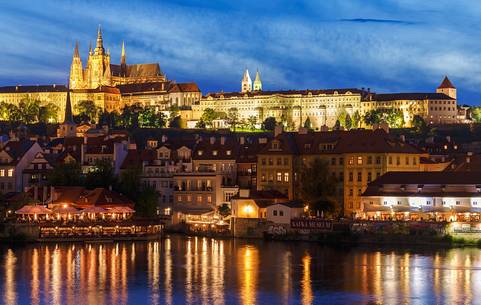
<instances>
[{"instance_id":1,"label":"deep blue evening sky with streaky clouds above the castle","mask_svg":"<svg viewBox=\"0 0 481 305\"><path fill-rule=\"evenodd\" d=\"M159 62L203 93L370 87L431 92L448 75L460 103L481 104L477 1L2 1L0 84L67 83L75 40L85 63L102 24L112 62ZM253 75L252 75L253 77Z\"/></svg>"}]
</instances>

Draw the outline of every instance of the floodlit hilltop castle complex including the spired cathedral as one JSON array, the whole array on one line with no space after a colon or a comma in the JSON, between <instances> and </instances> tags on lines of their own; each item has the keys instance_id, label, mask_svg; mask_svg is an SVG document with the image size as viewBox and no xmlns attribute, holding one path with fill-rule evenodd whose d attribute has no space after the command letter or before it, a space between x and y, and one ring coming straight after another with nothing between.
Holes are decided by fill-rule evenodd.
<instances>
[{"instance_id":1,"label":"floodlit hilltop castle complex including the spired cathedral","mask_svg":"<svg viewBox=\"0 0 481 305\"><path fill-rule=\"evenodd\" d=\"M239 121L260 124L274 117L290 130L308 124L314 130L332 128L340 115L362 116L371 110L400 109L405 125L410 126L416 115L428 124L458 122L456 88L447 77L436 92L377 94L369 89L306 89L264 91L259 70L252 81L246 69L239 92L214 92L202 96L195 83L169 80L158 63L128 64L125 44L119 64L113 64L110 51L104 48L102 30L97 32L96 46L89 48L84 66L78 43L70 66L69 87L72 110L78 112L80 101L93 101L104 111L122 111L126 105L141 104L156 111L178 106L183 126L195 127L208 108L218 113L237 113ZM22 99L54 103L64 109L67 87L9 86L0 87L0 101L18 104ZM59 112L57 121L64 120ZM220 122L216 127L227 127Z\"/></svg>"}]
</instances>

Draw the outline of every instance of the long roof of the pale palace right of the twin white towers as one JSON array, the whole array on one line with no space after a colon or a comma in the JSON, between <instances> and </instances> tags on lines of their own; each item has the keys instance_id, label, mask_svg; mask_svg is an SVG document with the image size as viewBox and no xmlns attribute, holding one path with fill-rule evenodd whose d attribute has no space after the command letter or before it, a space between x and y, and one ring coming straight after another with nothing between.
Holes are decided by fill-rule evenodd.
<instances>
[{"instance_id":1,"label":"long roof of the pale palace right of the twin white towers","mask_svg":"<svg viewBox=\"0 0 481 305\"><path fill-rule=\"evenodd\" d=\"M277 91L252 91L252 92L215 92L215 93L208 93L206 97L213 97L213 98L231 98L231 97L243 97L245 95L249 97L253 96L269 96L269 95L333 95L337 92L337 94L347 94L350 92L351 94L362 94L363 91L356 89L356 88L346 88L346 89L314 89L314 90L277 90Z\"/></svg>"}]
</instances>

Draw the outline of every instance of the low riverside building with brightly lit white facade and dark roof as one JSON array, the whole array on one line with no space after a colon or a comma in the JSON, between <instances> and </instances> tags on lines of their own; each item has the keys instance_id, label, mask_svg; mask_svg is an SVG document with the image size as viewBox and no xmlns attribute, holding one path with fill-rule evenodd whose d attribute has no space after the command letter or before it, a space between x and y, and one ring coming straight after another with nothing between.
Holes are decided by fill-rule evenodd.
<instances>
[{"instance_id":1,"label":"low riverside building with brightly lit white facade and dark roof","mask_svg":"<svg viewBox=\"0 0 481 305\"><path fill-rule=\"evenodd\" d=\"M371 219L479 221L480 172L390 172L362 194Z\"/></svg>"}]
</instances>

